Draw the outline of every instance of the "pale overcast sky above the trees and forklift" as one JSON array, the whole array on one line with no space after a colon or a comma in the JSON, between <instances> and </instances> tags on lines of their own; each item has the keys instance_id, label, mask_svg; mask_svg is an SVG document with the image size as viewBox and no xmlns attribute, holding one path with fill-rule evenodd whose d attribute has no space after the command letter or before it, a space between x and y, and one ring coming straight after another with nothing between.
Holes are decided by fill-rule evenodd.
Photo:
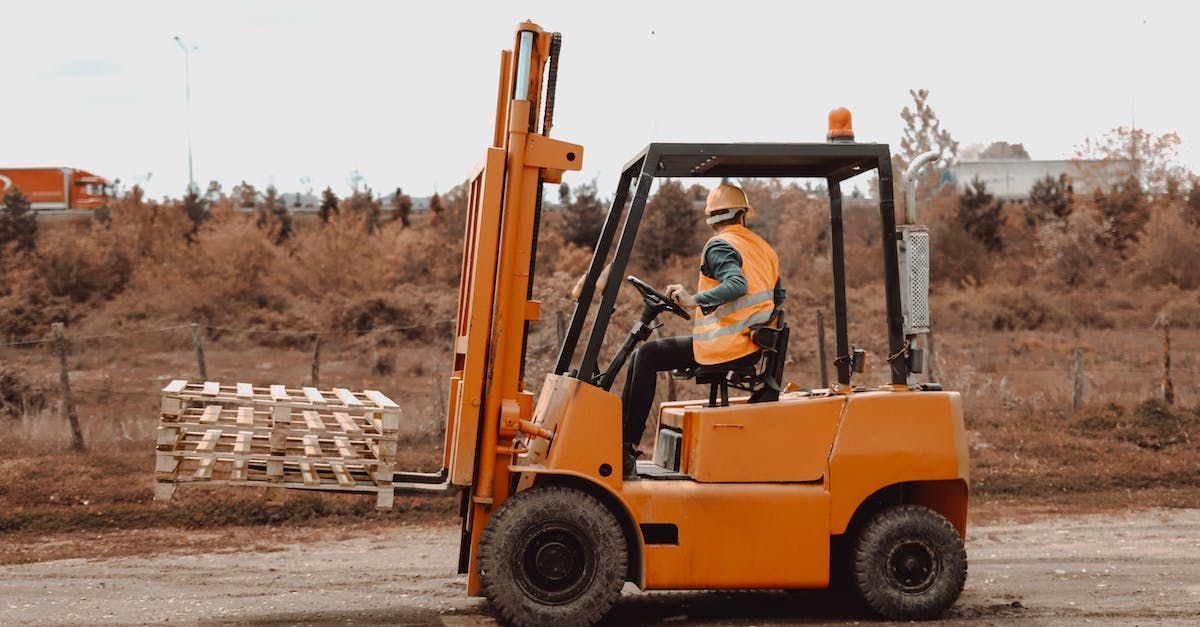
<instances>
[{"instance_id":1,"label":"pale overcast sky above the trees and forklift","mask_svg":"<svg viewBox=\"0 0 1200 627\"><path fill-rule=\"evenodd\" d=\"M611 193L649 141L896 144L928 88L962 145L1070 156L1129 125L1176 131L1200 171L1195 2L127 2L0 0L0 166L71 166L154 196L196 178L282 191L358 169L376 191L461 181L491 135L518 20L563 32L553 135ZM150 177L146 180L146 177ZM302 185L301 178L311 179Z\"/></svg>"}]
</instances>

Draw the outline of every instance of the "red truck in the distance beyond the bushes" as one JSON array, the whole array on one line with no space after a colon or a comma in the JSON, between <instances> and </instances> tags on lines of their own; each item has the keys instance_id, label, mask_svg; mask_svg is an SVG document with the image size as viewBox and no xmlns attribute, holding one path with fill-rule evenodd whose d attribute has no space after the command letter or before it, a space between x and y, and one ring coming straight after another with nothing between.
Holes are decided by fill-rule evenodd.
<instances>
[{"instance_id":1,"label":"red truck in the distance beyond the bushes","mask_svg":"<svg viewBox=\"0 0 1200 627\"><path fill-rule=\"evenodd\" d=\"M113 193L107 179L76 168L0 168L0 197L12 187L36 210L97 209Z\"/></svg>"}]
</instances>

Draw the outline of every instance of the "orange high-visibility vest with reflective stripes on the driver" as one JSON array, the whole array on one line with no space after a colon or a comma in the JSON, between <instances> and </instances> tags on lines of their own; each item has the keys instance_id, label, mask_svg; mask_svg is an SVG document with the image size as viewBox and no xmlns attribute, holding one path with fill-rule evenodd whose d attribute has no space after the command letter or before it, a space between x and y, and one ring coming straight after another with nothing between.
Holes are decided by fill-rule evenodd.
<instances>
[{"instance_id":1,"label":"orange high-visibility vest with reflective stripes on the driver","mask_svg":"<svg viewBox=\"0 0 1200 627\"><path fill-rule=\"evenodd\" d=\"M722 364L758 351L750 339L750 327L770 320L775 309L775 283L779 282L779 257L767 240L742 225L734 225L709 238L733 246L742 256L742 274L746 277L746 293L736 300L720 304L712 314L696 307L691 340L696 363ZM707 247L707 244L706 244ZM696 292L720 285L716 279L700 273Z\"/></svg>"}]
</instances>

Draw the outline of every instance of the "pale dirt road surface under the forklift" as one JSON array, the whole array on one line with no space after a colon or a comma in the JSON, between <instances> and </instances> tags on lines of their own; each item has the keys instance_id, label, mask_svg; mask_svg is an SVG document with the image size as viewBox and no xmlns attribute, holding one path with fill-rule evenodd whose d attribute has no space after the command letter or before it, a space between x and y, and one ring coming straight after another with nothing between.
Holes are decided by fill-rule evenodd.
<instances>
[{"instance_id":1,"label":"pale dirt road surface under the forklift","mask_svg":"<svg viewBox=\"0 0 1200 627\"><path fill-rule=\"evenodd\" d=\"M144 539L146 553L0 567L0 623L494 622L486 602L467 598L454 574L452 525L120 533L92 542ZM1200 509L989 521L971 529L967 550L967 587L949 625L1194 625L1200 616ZM608 623L864 620L820 592L641 593L628 586Z\"/></svg>"}]
</instances>

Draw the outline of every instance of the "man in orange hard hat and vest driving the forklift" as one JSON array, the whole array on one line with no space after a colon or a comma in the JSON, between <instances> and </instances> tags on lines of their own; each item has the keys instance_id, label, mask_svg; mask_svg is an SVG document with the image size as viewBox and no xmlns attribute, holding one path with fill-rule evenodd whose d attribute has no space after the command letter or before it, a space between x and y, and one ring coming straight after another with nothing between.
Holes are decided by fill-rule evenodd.
<instances>
[{"instance_id":1,"label":"man in orange hard hat and vest driving the forklift","mask_svg":"<svg viewBox=\"0 0 1200 627\"><path fill-rule=\"evenodd\" d=\"M673 283L666 295L685 309L698 309L691 335L647 341L634 352L622 393L623 473L637 479L637 449L654 405L658 374L697 365L752 366L760 347L751 327L767 322L786 294L779 257L767 240L746 228L754 208L737 185L722 183L708 193L706 222L714 235L701 253L696 293Z\"/></svg>"}]
</instances>

